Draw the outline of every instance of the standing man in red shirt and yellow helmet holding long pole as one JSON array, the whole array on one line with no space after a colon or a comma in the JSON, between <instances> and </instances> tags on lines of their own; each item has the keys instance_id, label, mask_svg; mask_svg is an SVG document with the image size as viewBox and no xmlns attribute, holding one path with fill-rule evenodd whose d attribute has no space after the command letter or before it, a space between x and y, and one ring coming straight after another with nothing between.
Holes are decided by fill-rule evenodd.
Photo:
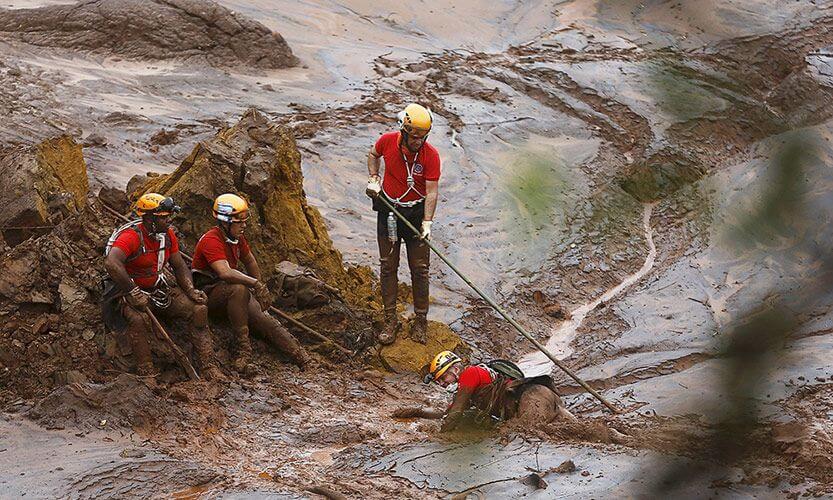
<instances>
[{"instance_id":1,"label":"standing man in red shirt and yellow helmet holding long pole","mask_svg":"<svg viewBox=\"0 0 833 500\"><path fill-rule=\"evenodd\" d=\"M399 131L383 134L367 155L370 179L366 192L373 198L373 209L377 212L376 238L379 243L382 304L385 309L385 326L379 334L379 342L382 344L393 343L399 330L396 298L402 240L408 252L414 295L415 318L411 325L411 336L418 342L426 342L430 257L426 240L431 236L440 180L440 154L427 142L432 125L433 116L428 109L419 104L409 104L399 113ZM379 177L382 159L385 160L384 178ZM411 224L421 229L421 234L413 234L402 221L396 219L376 199L378 196L384 196ZM389 229L389 226L395 226L396 229Z\"/></svg>"}]
</instances>

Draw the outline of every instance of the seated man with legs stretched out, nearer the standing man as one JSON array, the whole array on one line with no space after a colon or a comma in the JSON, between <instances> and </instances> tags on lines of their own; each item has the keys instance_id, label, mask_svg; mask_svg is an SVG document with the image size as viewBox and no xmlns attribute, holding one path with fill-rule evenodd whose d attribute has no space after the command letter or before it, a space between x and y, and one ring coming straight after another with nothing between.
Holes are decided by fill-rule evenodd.
<instances>
[{"instance_id":1,"label":"seated man with legs stretched out, nearer the standing man","mask_svg":"<svg viewBox=\"0 0 833 500\"><path fill-rule=\"evenodd\" d=\"M235 369L244 371L250 363L250 327L304 368L310 362L307 351L266 312L272 295L260 281L260 267L243 234L249 204L235 194L222 194L214 201L214 217L217 225L200 238L191 267L197 287L208 294L209 312L226 316L234 329ZM239 263L246 266L245 273L238 269Z\"/></svg>"}]
</instances>

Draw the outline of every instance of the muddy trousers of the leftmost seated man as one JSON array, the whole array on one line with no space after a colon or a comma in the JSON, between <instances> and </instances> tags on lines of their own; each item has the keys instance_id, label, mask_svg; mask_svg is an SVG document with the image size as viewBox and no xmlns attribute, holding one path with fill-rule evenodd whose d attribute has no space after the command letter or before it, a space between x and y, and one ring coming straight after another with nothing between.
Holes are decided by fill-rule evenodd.
<instances>
[{"instance_id":1,"label":"muddy trousers of the leftmost seated man","mask_svg":"<svg viewBox=\"0 0 833 500\"><path fill-rule=\"evenodd\" d=\"M211 330L208 328L208 308L193 302L179 288L172 288L170 294L171 303L168 307L162 309L151 302L151 312L159 319L186 321L200 368L216 369ZM146 375L153 370L148 339L149 335L154 335L155 329L147 314L130 307L124 299L120 300L122 314L127 322L126 334L136 360L137 371L140 375Z\"/></svg>"}]
</instances>

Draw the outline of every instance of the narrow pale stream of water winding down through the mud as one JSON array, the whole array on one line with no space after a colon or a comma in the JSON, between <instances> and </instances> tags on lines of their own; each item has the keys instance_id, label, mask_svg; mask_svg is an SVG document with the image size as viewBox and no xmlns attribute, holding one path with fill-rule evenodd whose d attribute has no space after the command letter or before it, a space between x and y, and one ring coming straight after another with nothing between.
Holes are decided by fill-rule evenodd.
<instances>
[{"instance_id":1,"label":"narrow pale stream of water winding down through the mud","mask_svg":"<svg viewBox=\"0 0 833 500\"><path fill-rule=\"evenodd\" d=\"M572 342L575 338L576 332L590 311L596 309L602 302L609 301L622 292L622 290L642 279L642 277L654 267L654 260L657 256L657 247L654 245L653 231L651 230L651 212L653 208L653 204L646 203L642 212L642 226L645 230L645 240L648 242L648 255L645 257L645 263L642 264L642 267L639 268L637 272L631 274L621 283L611 288L595 300L574 309L568 320L556 327L553 327L552 334L550 335L546 345L547 349L553 354L553 356L559 359L569 356L572 353L570 342ZM521 367L527 376L532 377L536 375L549 374L552 370L553 363L544 355L544 353L535 351L521 358L518 366Z\"/></svg>"}]
</instances>

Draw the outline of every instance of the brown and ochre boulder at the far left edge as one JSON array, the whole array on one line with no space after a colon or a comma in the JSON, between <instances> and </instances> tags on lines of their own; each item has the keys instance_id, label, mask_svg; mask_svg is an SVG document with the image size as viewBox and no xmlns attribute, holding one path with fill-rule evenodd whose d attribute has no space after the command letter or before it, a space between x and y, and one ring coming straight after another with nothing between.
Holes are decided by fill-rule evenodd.
<instances>
[{"instance_id":1,"label":"brown and ochre boulder at the far left edge","mask_svg":"<svg viewBox=\"0 0 833 500\"><path fill-rule=\"evenodd\" d=\"M81 146L71 137L12 148L0 158L3 239L15 246L43 234L42 226L78 213L88 190Z\"/></svg>"}]
</instances>

